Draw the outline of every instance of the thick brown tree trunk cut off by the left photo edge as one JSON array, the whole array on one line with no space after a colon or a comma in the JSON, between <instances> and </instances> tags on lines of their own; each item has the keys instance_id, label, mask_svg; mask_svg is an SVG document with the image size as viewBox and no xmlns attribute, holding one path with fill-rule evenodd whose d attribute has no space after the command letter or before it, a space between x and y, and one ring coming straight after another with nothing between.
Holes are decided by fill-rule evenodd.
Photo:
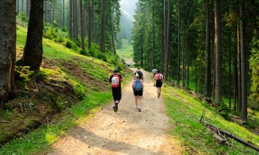
<instances>
[{"instance_id":1,"label":"thick brown tree trunk cut off by the left photo edge","mask_svg":"<svg viewBox=\"0 0 259 155\"><path fill-rule=\"evenodd\" d=\"M0 107L15 90L16 0L0 1Z\"/></svg>"}]
</instances>

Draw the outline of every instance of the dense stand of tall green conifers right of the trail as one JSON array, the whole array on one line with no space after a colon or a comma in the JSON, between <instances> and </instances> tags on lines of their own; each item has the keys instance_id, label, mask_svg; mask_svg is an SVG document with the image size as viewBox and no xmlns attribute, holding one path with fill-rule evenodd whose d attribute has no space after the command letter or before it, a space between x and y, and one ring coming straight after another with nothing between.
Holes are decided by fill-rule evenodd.
<instances>
[{"instance_id":1,"label":"dense stand of tall green conifers right of the trail","mask_svg":"<svg viewBox=\"0 0 259 155\"><path fill-rule=\"evenodd\" d=\"M253 0L140 0L134 61L145 70L155 66L166 81L247 121L247 103L259 110L258 5Z\"/></svg>"}]
</instances>

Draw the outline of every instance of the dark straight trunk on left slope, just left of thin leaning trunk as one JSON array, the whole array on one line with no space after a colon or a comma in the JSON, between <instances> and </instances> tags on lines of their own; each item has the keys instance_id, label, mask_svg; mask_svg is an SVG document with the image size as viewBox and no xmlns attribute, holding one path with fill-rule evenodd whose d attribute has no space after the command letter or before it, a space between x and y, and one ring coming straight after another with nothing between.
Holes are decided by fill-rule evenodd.
<instances>
[{"instance_id":1,"label":"dark straight trunk on left slope, just left of thin leaning trunk","mask_svg":"<svg viewBox=\"0 0 259 155\"><path fill-rule=\"evenodd\" d=\"M105 0L102 0L102 23L101 23L101 38L100 38L100 50L105 52Z\"/></svg>"}]
</instances>

